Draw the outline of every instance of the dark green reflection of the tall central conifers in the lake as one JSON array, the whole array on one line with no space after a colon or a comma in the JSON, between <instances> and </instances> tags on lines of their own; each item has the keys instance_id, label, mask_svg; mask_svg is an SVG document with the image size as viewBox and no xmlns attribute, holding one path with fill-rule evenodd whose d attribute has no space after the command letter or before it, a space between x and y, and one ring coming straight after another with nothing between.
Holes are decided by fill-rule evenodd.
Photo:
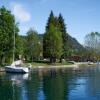
<instances>
[{"instance_id":1,"label":"dark green reflection of the tall central conifers in the lake","mask_svg":"<svg viewBox=\"0 0 100 100\"><path fill-rule=\"evenodd\" d=\"M48 73L43 77L43 91L46 100L67 100L68 85L65 77L62 78L61 73L55 70Z\"/></svg>"}]
</instances>

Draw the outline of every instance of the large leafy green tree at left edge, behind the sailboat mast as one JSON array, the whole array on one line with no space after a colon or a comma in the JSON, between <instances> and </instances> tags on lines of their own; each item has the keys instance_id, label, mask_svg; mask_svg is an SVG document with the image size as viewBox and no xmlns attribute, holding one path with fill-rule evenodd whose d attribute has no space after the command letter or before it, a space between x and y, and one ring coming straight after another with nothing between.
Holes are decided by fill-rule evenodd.
<instances>
[{"instance_id":1,"label":"large leafy green tree at left edge, behind the sailboat mast","mask_svg":"<svg viewBox=\"0 0 100 100\"><path fill-rule=\"evenodd\" d=\"M4 6L0 8L0 64L10 62L13 54L14 30L18 33L15 18Z\"/></svg>"}]
</instances>

